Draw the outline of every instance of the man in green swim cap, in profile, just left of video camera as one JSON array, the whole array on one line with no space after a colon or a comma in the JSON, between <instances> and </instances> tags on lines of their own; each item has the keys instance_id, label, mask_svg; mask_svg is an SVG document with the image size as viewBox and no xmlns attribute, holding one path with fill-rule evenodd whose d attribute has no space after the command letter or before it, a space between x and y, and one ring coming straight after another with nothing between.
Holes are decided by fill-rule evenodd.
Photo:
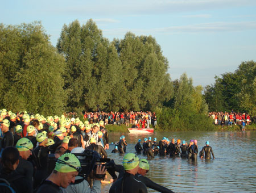
<instances>
[{"instance_id":1,"label":"man in green swim cap, in profile, just left of video camera","mask_svg":"<svg viewBox=\"0 0 256 193\"><path fill-rule=\"evenodd\" d=\"M57 160L55 169L44 180L37 193L53 192L61 193L61 187L67 188L70 183L75 183L75 177L81 171L79 159L71 153L65 153Z\"/></svg>"}]
</instances>

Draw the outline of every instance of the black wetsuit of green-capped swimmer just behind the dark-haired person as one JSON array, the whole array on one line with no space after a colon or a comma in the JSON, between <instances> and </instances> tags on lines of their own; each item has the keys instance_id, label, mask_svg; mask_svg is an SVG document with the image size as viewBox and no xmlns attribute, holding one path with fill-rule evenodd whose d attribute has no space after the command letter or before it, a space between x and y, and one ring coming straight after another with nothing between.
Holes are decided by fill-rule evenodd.
<instances>
[{"instance_id":1,"label":"black wetsuit of green-capped swimmer just behind the dark-haired person","mask_svg":"<svg viewBox=\"0 0 256 193\"><path fill-rule=\"evenodd\" d=\"M19 156L19 165L16 168L16 172L23 175L28 182L30 183L30 188L33 188L33 173L34 168L31 162L24 160L22 157Z\"/></svg>"}]
</instances>

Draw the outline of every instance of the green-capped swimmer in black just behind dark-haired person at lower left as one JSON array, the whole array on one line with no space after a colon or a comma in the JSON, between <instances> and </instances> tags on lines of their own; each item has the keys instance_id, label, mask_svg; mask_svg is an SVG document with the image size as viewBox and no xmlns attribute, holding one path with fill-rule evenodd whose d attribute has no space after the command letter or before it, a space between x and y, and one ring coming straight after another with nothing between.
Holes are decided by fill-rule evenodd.
<instances>
[{"instance_id":1,"label":"green-capped swimmer in black just behind dark-haired person at lower left","mask_svg":"<svg viewBox=\"0 0 256 193\"><path fill-rule=\"evenodd\" d=\"M32 163L27 161L27 159L32 155L33 144L29 139L23 137L17 142L16 148L19 151L19 165L16 168L16 171L28 179L28 182L30 182L30 186L32 188L34 168Z\"/></svg>"}]
</instances>

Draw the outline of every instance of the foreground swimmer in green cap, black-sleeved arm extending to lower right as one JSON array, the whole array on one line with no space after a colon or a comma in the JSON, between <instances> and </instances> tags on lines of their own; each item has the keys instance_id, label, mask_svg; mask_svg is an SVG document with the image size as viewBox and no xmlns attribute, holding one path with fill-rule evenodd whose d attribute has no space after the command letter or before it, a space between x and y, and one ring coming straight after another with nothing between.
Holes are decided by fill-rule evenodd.
<instances>
[{"instance_id":1,"label":"foreground swimmer in green cap, black-sleeved arm extending to lower right","mask_svg":"<svg viewBox=\"0 0 256 193\"><path fill-rule=\"evenodd\" d=\"M141 159L141 161L139 161L139 170L138 170L138 173L135 175L135 179L144 183L146 187L154 189L158 192L173 193L173 191L169 190L168 188L160 186L159 184L151 181L151 179L145 177L144 175L148 173L149 169L150 169L150 166L148 164L148 161L145 159Z\"/></svg>"}]
</instances>

